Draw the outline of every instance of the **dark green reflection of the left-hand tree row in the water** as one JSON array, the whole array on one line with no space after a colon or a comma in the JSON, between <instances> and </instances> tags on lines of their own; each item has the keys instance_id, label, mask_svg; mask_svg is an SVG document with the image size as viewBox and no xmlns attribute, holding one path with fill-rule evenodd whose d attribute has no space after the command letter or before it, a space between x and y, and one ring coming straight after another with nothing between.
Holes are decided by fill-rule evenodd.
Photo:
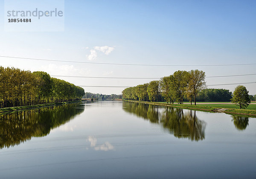
<instances>
[{"instance_id":1,"label":"dark green reflection of the left-hand tree row in the water","mask_svg":"<svg viewBox=\"0 0 256 179\"><path fill-rule=\"evenodd\" d=\"M65 124L83 111L84 105L73 103L1 114L0 148L18 145L31 137L47 136L51 129Z\"/></svg>"}]
</instances>

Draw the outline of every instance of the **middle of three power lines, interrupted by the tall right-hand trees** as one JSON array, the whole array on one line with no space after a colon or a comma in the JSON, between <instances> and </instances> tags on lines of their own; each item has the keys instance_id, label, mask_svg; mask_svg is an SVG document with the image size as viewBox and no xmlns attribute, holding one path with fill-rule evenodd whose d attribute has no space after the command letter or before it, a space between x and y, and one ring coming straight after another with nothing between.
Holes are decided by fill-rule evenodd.
<instances>
[{"instance_id":1,"label":"middle of three power lines, interrupted by the tall right-hand trees","mask_svg":"<svg viewBox=\"0 0 256 179\"><path fill-rule=\"evenodd\" d=\"M205 78L218 78L218 77L233 77L233 76L249 76L255 74L245 74L245 75L223 75L223 76L207 76ZM70 75L50 75L54 77L68 77L68 78L104 78L104 79L160 79L160 78L150 78L150 77L100 77L100 76L70 76Z\"/></svg>"}]
</instances>

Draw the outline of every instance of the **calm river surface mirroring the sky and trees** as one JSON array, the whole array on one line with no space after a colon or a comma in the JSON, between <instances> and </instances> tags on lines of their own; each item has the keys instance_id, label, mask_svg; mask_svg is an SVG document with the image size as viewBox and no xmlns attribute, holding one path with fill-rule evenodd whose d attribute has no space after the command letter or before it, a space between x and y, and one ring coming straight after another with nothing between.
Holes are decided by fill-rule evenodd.
<instances>
[{"instance_id":1,"label":"calm river surface mirroring the sky and trees","mask_svg":"<svg viewBox=\"0 0 256 179\"><path fill-rule=\"evenodd\" d=\"M129 102L0 115L0 178L255 178L256 118Z\"/></svg>"}]
</instances>

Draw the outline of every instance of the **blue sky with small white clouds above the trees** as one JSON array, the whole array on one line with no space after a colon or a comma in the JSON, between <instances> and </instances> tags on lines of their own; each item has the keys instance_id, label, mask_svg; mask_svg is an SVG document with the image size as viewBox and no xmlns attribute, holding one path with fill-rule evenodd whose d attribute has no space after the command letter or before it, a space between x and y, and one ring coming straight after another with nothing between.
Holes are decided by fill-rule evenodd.
<instances>
[{"instance_id":1,"label":"blue sky with small white clouds above the trees","mask_svg":"<svg viewBox=\"0 0 256 179\"><path fill-rule=\"evenodd\" d=\"M0 1L1 12L4 1ZM4 20L3 14L0 14ZM64 32L5 32L0 55L133 64L255 63L256 1L65 0ZM200 69L207 76L255 73L252 66L111 66L0 58L2 66L50 75L163 77ZM150 80L61 78L76 85L136 86ZM206 78L207 84L256 81L256 75ZM237 85L215 86L233 91ZM244 85L256 94L256 84ZM210 88L210 87L209 87ZM122 88L84 88L120 94Z\"/></svg>"}]
</instances>

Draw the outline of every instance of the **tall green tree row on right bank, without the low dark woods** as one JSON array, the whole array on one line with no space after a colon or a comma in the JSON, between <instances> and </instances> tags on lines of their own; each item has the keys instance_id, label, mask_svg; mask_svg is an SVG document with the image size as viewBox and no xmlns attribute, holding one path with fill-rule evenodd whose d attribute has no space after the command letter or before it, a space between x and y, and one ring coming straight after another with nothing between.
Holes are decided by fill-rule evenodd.
<instances>
[{"instance_id":1,"label":"tall green tree row on right bank, without the low dark woods","mask_svg":"<svg viewBox=\"0 0 256 179\"><path fill-rule=\"evenodd\" d=\"M176 101L183 104L184 97L191 102L205 86L205 72L198 69L176 71L173 75L165 76L160 81L151 81L122 91L123 99L140 101L161 101L160 94L170 103Z\"/></svg>"}]
</instances>

